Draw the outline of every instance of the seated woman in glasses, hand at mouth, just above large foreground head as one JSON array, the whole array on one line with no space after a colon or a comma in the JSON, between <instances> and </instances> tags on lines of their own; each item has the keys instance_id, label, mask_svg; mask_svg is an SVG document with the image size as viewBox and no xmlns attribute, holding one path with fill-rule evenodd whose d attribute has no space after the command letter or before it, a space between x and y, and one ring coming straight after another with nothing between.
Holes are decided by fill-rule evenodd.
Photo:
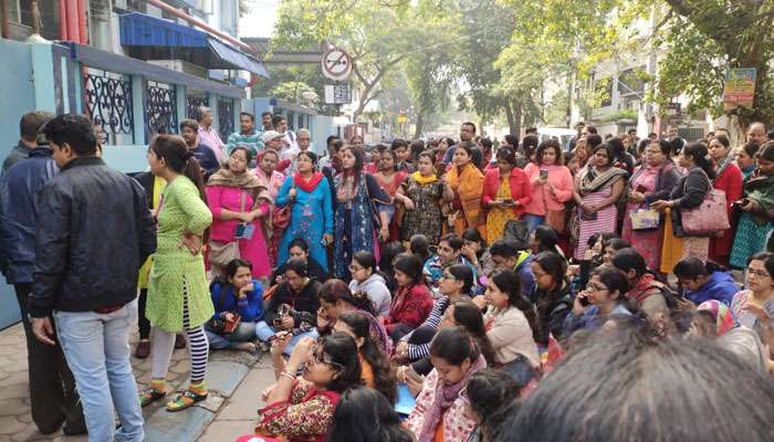
<instances>
[{"instance_id":1,"label":"seated woman in glasses, hand at mouth, just above large foreground head","mask_svg":"<svg viewBox=\"0 0 774 442\"><path fill-rule=\"evenodd\" d=\"M627 308L629 283L624 272L603 265L592 272L586 290L575 297L573 311L564 322L566 335L582 328L599 328L613 316L636 316Z\"/></svg>"}]
</instances>

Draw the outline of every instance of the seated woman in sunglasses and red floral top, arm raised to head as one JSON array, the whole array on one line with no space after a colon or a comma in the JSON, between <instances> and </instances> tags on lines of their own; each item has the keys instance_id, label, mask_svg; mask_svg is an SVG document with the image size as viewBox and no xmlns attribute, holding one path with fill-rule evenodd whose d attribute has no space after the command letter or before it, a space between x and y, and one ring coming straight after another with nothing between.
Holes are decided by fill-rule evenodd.
<instances>
[{"instance_id":1,"label":"seated woman in sunglasses and red floral top, arm raised to head","mask_svg":"<svg viewBox=\"0 0 774 442\"><path fill-rule=\"evenodd\" d=\"M357 346L343 333L320 340L307 337L293 348L285 362L282 354L290 338L290 334L283 334L272 344L276 382L263 390L269 406L258 411L255 432L280 435L289 442L323 442L341 394L360 383ZM296 377L299 369L302 375Z\"/></svg>"}]
</instances>

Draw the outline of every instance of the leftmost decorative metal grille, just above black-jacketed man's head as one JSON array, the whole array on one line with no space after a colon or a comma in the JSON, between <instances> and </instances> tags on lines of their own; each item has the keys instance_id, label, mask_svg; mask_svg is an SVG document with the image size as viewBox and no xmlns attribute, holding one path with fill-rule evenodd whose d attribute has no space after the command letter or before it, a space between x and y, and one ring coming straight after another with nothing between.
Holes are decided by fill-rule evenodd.
<instances>
[{"instance_id":1,"label":"leftmost decorative metal grille, just above black-jacketed man's head","mask_svg":"<svg viewBox=\"0 0 774 442\"><path fill-rule=\"evenodd\" d=\"M104 144L111 144L116 135L134 133L130 81L121 74L88 69L83 90L86 113L95 125L102 126Z\"/></svg>"}]
</instances>

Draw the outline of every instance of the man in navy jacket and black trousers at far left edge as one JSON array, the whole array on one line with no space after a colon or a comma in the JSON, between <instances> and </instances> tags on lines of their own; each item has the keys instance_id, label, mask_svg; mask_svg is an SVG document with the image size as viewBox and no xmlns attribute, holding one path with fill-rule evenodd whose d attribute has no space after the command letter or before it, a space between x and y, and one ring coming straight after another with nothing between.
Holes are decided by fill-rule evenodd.
<instances>
[{"instance_id":1,"label":"man in navy jacket and black trousers at far left edge","mask_svg":"<svg viewBox=\"0 0 774 442\"><path fill-rule=\"evenodd\" d=\"M43 434L59 430L65 434L86 431L83 411L77 407L73 373L62 347L40 343L32 334L29 296L35 263L35 194L59 168L48 146L36 147L11 167L0 179L0 267L6 282L13 284L27 336L32 421Z\"/></svg>"}]
</instances>

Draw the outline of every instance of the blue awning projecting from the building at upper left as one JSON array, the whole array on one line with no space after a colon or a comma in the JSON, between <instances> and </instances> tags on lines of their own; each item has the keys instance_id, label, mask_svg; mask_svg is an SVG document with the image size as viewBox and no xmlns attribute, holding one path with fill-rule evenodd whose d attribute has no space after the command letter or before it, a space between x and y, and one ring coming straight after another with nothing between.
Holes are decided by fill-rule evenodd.
<instances>
[{"instance_id":1,"label":"blue awning projecting from the building at upper left","mask_svg":"<svg viewBox=\"0 0 774 442\"><path fill-rule=\"evenodd\" d=\"M209 33L139 12L121 15L121 44L140 60L185 60L211 70L244 70L269 77L252 55Z\"/></svg>"}]
</instances>

